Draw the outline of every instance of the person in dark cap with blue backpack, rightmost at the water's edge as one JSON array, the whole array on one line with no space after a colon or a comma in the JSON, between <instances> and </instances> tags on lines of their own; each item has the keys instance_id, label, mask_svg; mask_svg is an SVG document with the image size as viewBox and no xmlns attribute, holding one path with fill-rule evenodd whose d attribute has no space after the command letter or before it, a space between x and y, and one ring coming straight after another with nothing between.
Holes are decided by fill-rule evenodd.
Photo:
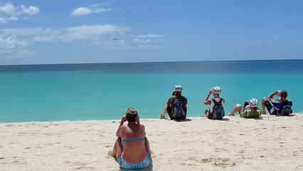
<instances>
[{"instance_id":1,"label":"person in dark cap with blue backpack, rightmost at the water's edge","mask_svg":"<svg viewBox=\"0 0 303 171\"><path fill-rule=\"evenodd\" d=\"M274 100L275 95L280 98ZM287 100L286 90L276 90L268 96L268 100L262 98L262 114L265 114L265 107L270 115L290 115L292 113L292 100Z\"/></svg>"}]
</instances>

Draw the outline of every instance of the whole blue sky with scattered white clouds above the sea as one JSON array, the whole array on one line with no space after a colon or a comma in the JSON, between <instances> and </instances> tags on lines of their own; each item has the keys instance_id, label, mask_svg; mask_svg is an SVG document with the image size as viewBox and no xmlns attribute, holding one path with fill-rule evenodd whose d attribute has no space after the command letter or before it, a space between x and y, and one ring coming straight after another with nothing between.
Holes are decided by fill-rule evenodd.
<instances>
[{"instance_id":1,"label":"whole blue sky with scattered white clouds above the sea","mask_svg":"<svg viewBox=\"0 0 303 171\"><path fill-rule=\"evenodd\" d=\"M303 1L0 1L0 65L303 59Z\"/></svg>"}]
</instances>

